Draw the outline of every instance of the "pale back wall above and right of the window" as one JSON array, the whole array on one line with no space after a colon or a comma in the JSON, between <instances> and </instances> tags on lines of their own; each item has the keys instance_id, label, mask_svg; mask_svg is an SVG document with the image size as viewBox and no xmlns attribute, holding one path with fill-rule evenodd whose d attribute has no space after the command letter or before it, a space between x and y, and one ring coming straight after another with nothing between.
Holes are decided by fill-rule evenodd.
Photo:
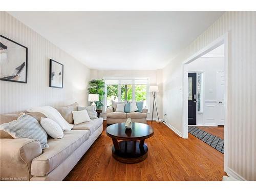
<instances>
[{"instance_id":1,"label":"pale back wall above and right of the window","mask_svg":"<svg viewBox=\"0 0 256 192\"><path fill-rule=\"evenodd\" d=\"M156 102L158 108L159 119L163 118L162 114L162 70L151 70L151 71L115 71L115 70L91 70L91 79L102 79L103 77L149 77L150 85L157 85L159 88L159 93L157 93ZM153 97L150 94L150 111L147 115L151 118L152 115L152 103ZM104 117L104 114L102 114ZM157 118L156 111L154 112L154 117Z\"/></svg>"}]
</instances>

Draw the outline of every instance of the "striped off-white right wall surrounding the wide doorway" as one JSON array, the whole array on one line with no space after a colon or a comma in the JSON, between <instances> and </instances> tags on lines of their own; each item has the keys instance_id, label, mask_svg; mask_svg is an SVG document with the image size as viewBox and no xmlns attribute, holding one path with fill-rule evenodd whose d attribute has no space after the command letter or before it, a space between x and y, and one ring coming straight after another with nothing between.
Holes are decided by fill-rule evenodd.
<instances>
[{"instance_id":1,"label":"striped off-white right wall surrounding the wide doorway","mask_svg":"<svg viewBox=\"0 0 256 192\"><path fill-rule=\"evenodd\" d=\"M182 62L228 32L228 170L256 180L256 12L226 12L163 69L163 111L180 132Z\"/></svg>"}]
</instances>

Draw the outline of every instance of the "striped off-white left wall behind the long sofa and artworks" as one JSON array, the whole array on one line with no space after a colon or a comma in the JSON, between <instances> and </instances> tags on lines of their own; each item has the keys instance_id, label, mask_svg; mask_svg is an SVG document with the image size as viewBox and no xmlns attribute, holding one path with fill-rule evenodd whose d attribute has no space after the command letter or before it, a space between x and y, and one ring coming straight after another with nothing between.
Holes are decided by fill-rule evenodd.
<instances>
[{"instance_id":1,"label":"striped off-white left wall behind the long sofa and artworks","mask_svg":"<svg viewBox=\"0 0 256 192\"><path fill-rule=\"evenodd\" d=\"M87 104L90 69L7 12L1 12L0 17L1 35L28 48L28 83L0 81L0 113L25 111L32 106L61 106L74 101ZM64 65L63 89L49 87L49 59Z\"/></svg>"}]
</instances>

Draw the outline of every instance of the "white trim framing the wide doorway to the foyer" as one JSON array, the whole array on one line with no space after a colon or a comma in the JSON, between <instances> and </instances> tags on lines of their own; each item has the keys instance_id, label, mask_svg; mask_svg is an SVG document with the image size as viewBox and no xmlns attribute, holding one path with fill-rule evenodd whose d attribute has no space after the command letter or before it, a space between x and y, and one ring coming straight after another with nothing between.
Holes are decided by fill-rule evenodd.
<instances>
[{"instance_id":1,"label":"white trim framing the wide doorway to the foyer","mask_svg":"<svg viewBox=\"0 0 256 192\"><path fill-rule=\"evenodd\" d=\"M214 50L215 48L219 47L220 45L224 44L224 72L225 72L225 124L224 124L224 171L227 172L228 170L228 32L222 35L221 37L217 38L216 40L212 41L209 45L195 53L194 55L188 57L183 63L183 120L182 120L182 127L183 127L183 138L188 138L188 68L187 65L192 61L198 59L199 57L205 55L206 53Z\"/></svg>"}]
</instances>

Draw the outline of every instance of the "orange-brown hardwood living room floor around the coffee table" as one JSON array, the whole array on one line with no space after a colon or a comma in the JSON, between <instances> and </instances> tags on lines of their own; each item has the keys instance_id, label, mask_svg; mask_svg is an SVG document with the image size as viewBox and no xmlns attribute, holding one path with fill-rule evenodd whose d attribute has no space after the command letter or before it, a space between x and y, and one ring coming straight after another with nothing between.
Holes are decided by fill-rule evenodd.
<instances>
[{"instance_id":1,"label":"orange-brown hardwood living room floor around the coffee table","mask_svg":"<svg viewBox=\"0 0 256 192\"><path fill-rule=\"evenodd\" d=\"M148 121L151 124L151 121ZM66 181L220 181L224 155L188 134L182 139L163 123L153 123L155 134L146 139L148 157L124 164L112 157L113 145L103 133L65 178Z\"/></svg>"}]
</instances>

